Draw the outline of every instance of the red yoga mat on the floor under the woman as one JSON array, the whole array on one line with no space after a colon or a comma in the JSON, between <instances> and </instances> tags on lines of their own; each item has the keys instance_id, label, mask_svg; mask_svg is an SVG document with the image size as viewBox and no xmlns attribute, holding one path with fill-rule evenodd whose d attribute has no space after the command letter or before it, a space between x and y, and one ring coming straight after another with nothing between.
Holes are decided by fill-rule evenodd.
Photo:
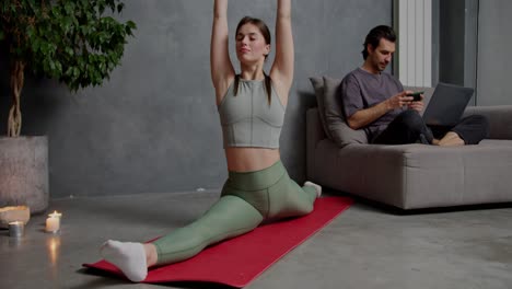
<instances>
[{"instance_id":1,"label":"red yoga mat on the floor under the woman","mask_svg":"<svg viewBox=\"0 0 512 289\"><path fill-rule=\"evenodd\" d=\"M143 282L193 281L245 287L351 204L352 200L346 197L319 198L307 216L258 227L249 233L207 247L187 261L150 269ZM124 276L105 261L83 266Z\"/></svg>"}]
</instances>

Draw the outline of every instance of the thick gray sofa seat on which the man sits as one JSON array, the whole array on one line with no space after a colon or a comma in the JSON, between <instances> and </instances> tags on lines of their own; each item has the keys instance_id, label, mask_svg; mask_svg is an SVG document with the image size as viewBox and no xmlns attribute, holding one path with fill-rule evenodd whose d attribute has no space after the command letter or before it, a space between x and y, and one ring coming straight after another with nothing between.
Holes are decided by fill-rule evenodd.
<instances>
[{"instance_id":1,"label":"thick gray sofa seat on which the man sits","mask_svg":"<svg viewBox=\"0 0 512 289\"><path fill-rule=\"evenodd\" d=\"M403 209L512 201L512 140L443 148L316 143L307 178Z\"/></svg>"}]
</instances>

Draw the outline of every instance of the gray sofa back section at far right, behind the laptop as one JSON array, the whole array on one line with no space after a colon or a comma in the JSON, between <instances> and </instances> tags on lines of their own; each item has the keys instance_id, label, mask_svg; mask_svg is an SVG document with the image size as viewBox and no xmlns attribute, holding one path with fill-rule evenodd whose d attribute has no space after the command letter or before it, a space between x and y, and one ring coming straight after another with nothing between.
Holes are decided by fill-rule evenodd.
<instances>
[{"instance_id":1,"label":"gray sofa back section at far right, behind the laptop","mask_svg":"<svg viewBox=\"0 0 512 289\"><path fill-rule=\"evenodd\" d=\"M512 105L468 106L464 116L484 115L489 120L489 139L512 139Z\"/></svg>"}]
</instances>

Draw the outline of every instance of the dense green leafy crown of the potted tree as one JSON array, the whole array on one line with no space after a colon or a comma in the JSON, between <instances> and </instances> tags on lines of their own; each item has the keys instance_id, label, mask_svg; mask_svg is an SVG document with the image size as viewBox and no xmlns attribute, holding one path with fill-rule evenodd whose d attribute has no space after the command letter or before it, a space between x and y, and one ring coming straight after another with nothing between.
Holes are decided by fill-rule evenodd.
<instances>
[{"instance_id":1,"label":"dense green leafy crown of the potted tree","mask_svg":"<svg viewBox=\"0 0 512 289\"><path fill-rule=\"evenodd\" d=\"M105 9L112 13L102 16ZM11 37L4 27L19 32L16 37L24 41L13 46L11 55L71 91L101 85L120 63L137 28L132 21L114 18L124 9L119 0L0 1L0 39Z\"/></svg>"}]
</instances>

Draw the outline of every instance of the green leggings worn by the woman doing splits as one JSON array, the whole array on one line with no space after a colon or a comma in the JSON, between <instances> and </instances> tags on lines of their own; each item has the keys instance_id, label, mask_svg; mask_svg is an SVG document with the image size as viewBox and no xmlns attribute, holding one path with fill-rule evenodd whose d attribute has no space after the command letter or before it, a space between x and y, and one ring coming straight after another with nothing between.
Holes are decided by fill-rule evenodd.
<instances>
[{"instance_id":1,"label":"green leggings worn by the woman doing splits","mask_svg":"<svg viewBox=\"0 0 512 289\"><path fill-rule=\"evenodd\" d=\"M307 215L316 192L290 180L278 161L261 171L230 172L221 198L195 222L156 240L156 265L193 257L208 245L254 230L264 220Z\"/></svg>"}]
</instances>

